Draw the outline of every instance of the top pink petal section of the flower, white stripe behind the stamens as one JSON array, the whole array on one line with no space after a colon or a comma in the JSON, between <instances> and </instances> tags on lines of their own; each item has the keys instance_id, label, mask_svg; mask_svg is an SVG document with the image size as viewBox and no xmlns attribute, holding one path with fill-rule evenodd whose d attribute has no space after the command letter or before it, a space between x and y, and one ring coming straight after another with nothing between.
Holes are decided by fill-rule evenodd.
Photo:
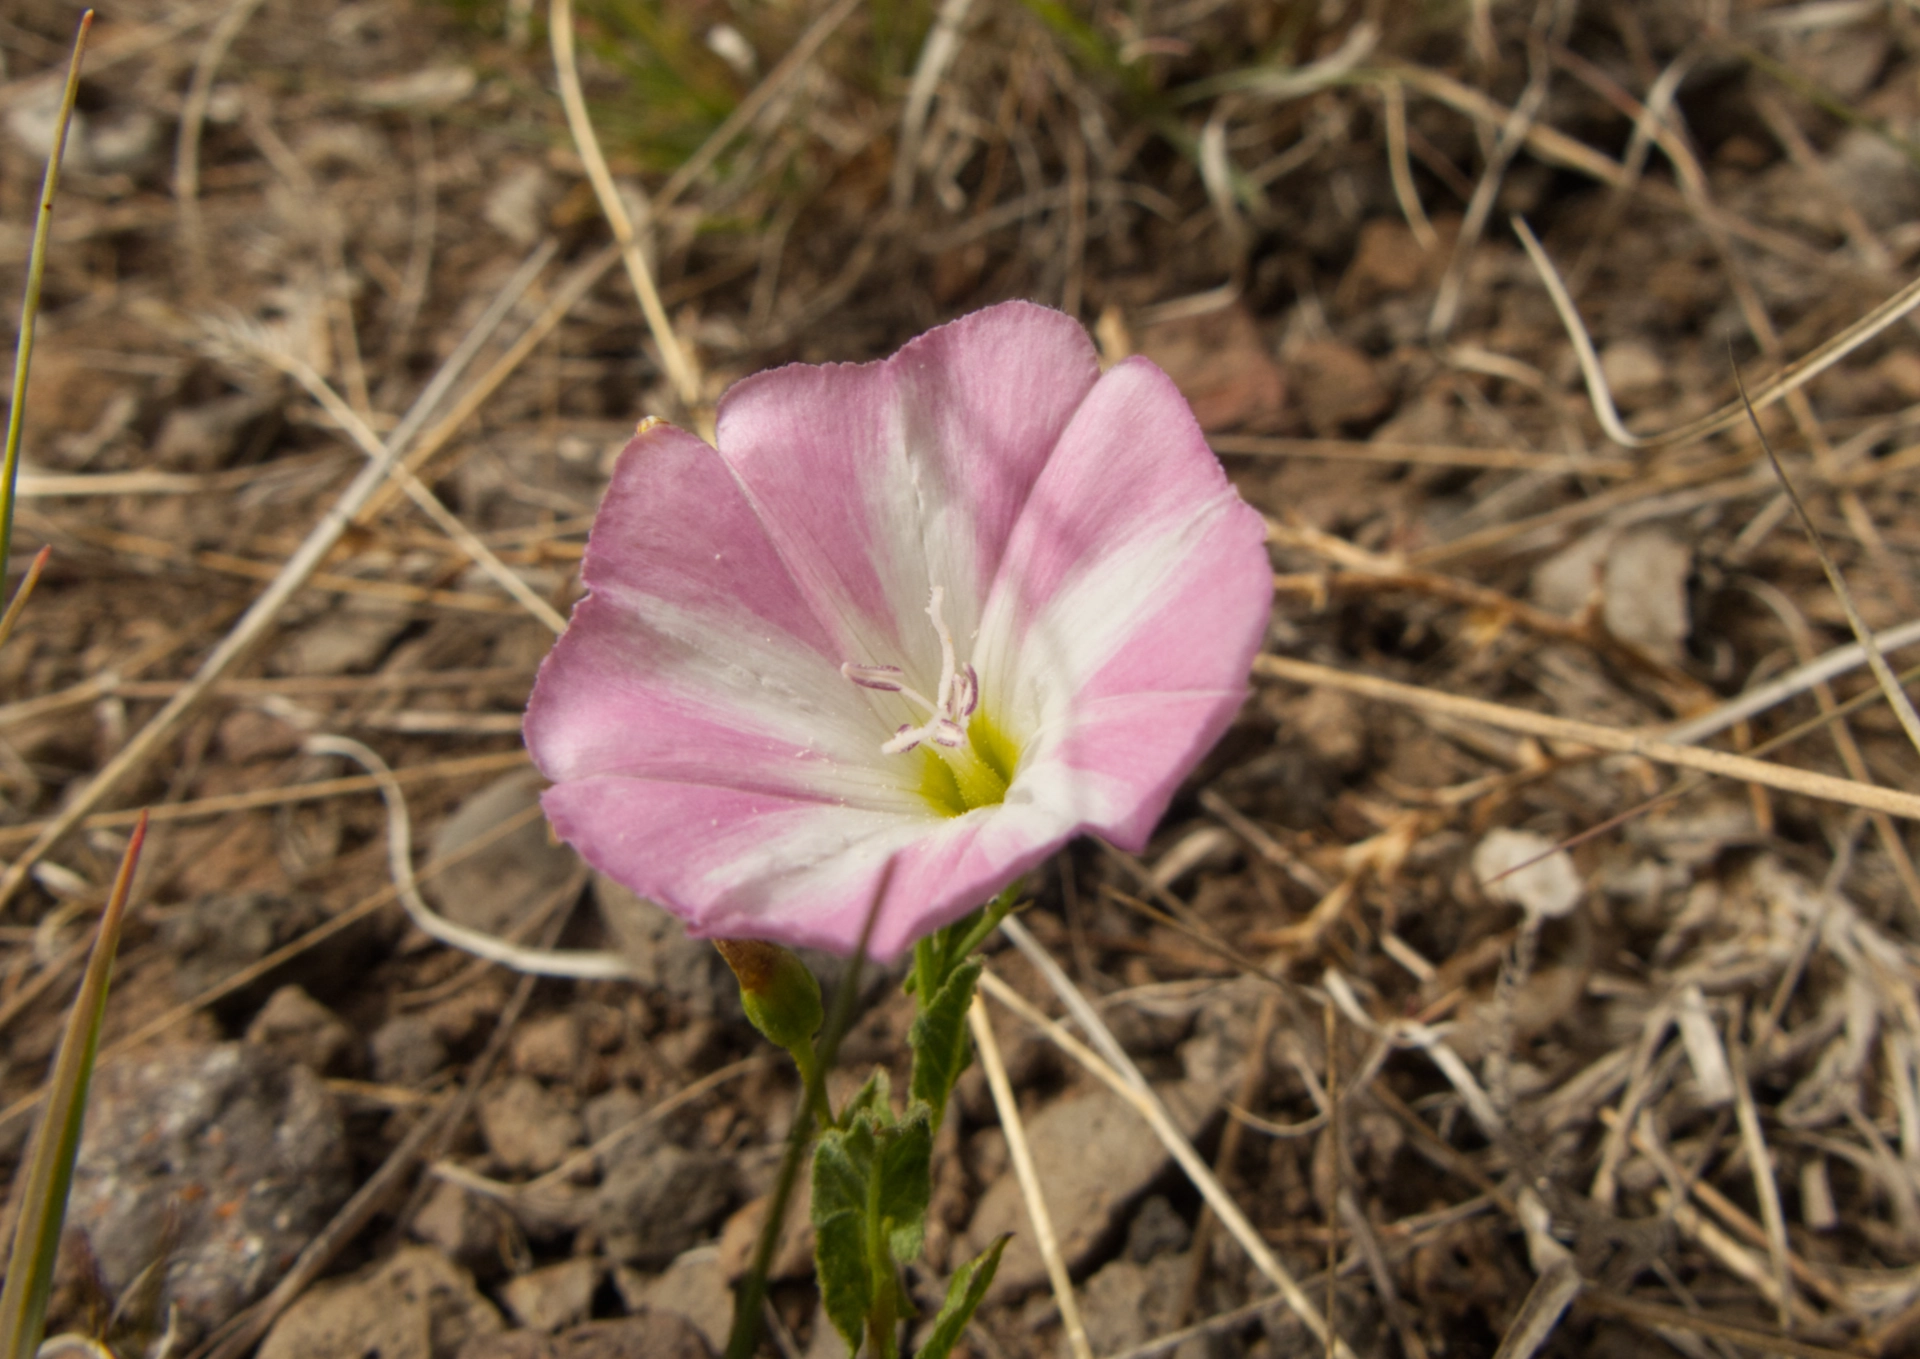
<instances>
[{"instance_id":1,"label":"top pink petal section of the flower, white stripe behind the stamens","mask_svg":"<svg viewBox=\"0 0 1920 1359\"><path fill-rule=\"evenodd\" d=\"M939 678L925 622L958 635L1075 407L1098 376L1071 317L1004 303L883 363L762 372L720 403L718 441L843 658Z\"/></svg>"}]
</instances>

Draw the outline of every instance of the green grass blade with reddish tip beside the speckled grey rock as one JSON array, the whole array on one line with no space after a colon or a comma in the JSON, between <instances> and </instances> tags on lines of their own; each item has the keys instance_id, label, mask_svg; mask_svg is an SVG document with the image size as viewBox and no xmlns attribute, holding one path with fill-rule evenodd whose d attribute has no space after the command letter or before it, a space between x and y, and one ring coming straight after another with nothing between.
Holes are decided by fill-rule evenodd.
<instances>
[{"instance_id":1,"label":"green grass blade with reddish tip beside the speckled grey rock","mask_svg":"<svg viewBox=\"0 0 1920 1359\"><path fill-rule=\"evenodd\" d=\"M86 1119L86 1086L94 1075L94 1054L100 1050L100 1021L108 1010L108 981L113 977L113 954L119 948L121 921L127 918L127 894L132 870L140 862L146 841L146 814L127 841L113 893L100 916L100 935L86 960L81 994L73 1000L67 1033L54 1061L54 1081L46 1096L46 1117L35 1138L33 1159L27 1163L27 1190L13 1225L13 1253L0 1292L0 1359L31 1359L46 1330L46 1298L54 1288L54 1265L60 1259L60 1228L67 1221L67 1190L73 1186L73 1157L81 1150L81 1125Z\"/></svg>"}]
</instances>

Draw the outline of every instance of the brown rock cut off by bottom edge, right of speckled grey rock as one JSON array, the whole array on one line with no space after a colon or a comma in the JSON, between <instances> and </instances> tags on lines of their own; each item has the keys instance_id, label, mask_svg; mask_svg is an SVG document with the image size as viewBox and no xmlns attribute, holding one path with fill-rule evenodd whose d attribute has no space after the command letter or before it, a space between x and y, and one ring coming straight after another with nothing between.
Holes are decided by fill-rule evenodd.
<instances>
[{"instance_id":1,"label":"brown rock cut off by bottom edge, right of speckled grey rock","mask_svg":"<svg viewBox=\"0 0 1920 1359\"><path fill-rule=\"evenodd\" d=\"M503 1330L474 1280L428 1246L303 1294L267 1332L259 1359L453 1359Z\"/></svg>"}]
</instances>

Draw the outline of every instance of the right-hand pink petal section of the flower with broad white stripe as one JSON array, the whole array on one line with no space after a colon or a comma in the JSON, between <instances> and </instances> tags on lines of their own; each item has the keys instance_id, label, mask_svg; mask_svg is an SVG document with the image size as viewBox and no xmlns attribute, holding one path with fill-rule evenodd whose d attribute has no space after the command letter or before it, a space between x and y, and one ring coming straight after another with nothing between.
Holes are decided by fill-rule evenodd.
<instances>
[{"instance_id":1,"label":"right-hand pink petal section of the flower with broad white stripe","mask_svg":"<svg viewBox=\"0 0 1920 1359\"><path fill-rule=\"evenodd\" d=\"M1018 783L1139 845L1227 729L1267 626L1265 526L1144 359L1081 405L1033 488L975 653Z\"/></svg>"}]
</instances>

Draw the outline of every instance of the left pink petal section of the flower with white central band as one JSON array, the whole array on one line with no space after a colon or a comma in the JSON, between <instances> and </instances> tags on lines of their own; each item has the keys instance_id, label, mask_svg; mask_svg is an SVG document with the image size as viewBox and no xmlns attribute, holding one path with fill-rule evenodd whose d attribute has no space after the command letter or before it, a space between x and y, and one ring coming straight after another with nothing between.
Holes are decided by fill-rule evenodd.
<instances>
[{"instance_id":1,"label":"left pink petal section of the flower with white central band","mask_svg":"<svg viewBox=\"0 0 1920 1359\"><path fill-rule=\"evenodd\" d=\"M591 587L526 714L551 779L624 774L924 810L891 727L831 643L720 455L670 426L622 453L593 524Z\"/></svg>"}]
</instances>

